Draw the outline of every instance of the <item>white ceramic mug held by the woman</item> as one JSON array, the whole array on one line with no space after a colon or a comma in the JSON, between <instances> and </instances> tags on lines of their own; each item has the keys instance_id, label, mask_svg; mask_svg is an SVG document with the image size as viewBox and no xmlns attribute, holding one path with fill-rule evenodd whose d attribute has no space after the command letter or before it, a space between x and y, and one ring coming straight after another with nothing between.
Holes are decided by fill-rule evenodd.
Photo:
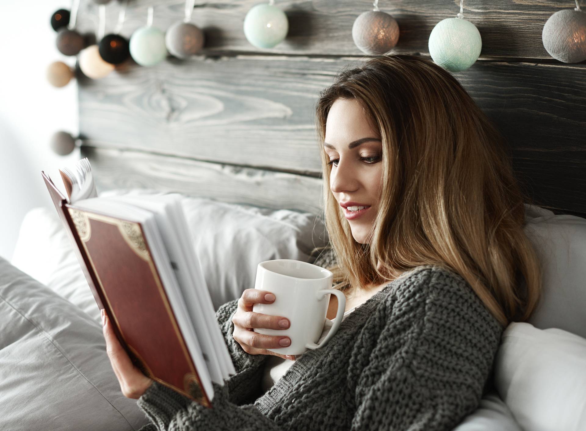
<instances>
[{"instance_id":1,"label":"white ceramic mug held by the woman","mask_svg":"<svg viewBox=\"0 0 586 431\"><path fill-rule=\"evenodd\" d=\"M334 336L346 309L346 297L332 287L333 274L321 266L294 259L276 259L258 264L254 288L274 293L270 304L255 304L256 313L287 317L291 322L288 329L254 328L259 334L288 336L291 344L287 347L270 348L283 355L299 355L308 349L324 346ZM338 313L328 335L320 344L330 295L338 297Z\"/></svg>"}]
</instances>

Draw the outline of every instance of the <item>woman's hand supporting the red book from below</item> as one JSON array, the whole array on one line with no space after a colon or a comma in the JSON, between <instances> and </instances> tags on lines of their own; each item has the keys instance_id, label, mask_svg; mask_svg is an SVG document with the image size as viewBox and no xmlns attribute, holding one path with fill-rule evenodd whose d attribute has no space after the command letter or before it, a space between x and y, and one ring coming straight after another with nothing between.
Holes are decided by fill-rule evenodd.
<instances>
[{"instance_id":1,"label":"woman's hand supporting the red book from below","mask_svg":"<svg viewBox=\"0 0 586 431\"><path fill-rule=\"evenodd\" d=\"M102 330L106 340L106 353L110 358L114 373L118 377L118 382L120 382L122 394L127 398L141 398L141 395L151 386L154 380L145 376L141 370L132 364L130 357L121 346L118 338L116 338L110 319L108 319L104 309L102 310Z\"/></svg>"}]
</instances>

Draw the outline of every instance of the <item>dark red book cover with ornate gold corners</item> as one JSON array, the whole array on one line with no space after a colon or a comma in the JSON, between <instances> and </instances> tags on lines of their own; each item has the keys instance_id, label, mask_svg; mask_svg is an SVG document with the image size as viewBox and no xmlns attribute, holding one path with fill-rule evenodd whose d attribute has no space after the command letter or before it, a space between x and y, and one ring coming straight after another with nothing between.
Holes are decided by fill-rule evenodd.
<instances>
[{"instance_id":1,"label":"dark red book cover with ornate gold corners","mask_svg":"<svg viewBox=\"0 0 586 431\"><path fill-rule=\"evenodd\" d=\"M68 204L42 172L96 302L148 377L210 407L142 225Z\"/></svg>"}]
</instances>

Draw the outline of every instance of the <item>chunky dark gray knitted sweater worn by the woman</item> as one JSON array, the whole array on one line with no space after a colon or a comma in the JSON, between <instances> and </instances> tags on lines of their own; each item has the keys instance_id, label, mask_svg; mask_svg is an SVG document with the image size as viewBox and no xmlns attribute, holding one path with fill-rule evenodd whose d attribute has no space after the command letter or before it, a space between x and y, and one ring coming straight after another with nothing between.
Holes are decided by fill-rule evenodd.
<instances>
[{"instance_id":1,"label":"chunky dark gray knitted sweater worn by the woman","mask_svg":"<svg viewBox=\"0 0 586 431\"><path fill-rule=\"evenodd\" d=\"M237 300L217 310L236 374L205 408L154 382L138 399L155 430L452 430L492 381L503 327L465 280L418 266L358 306L326 346L267 392L268 355L232 338Z\"/></svg>"}]
</instances>

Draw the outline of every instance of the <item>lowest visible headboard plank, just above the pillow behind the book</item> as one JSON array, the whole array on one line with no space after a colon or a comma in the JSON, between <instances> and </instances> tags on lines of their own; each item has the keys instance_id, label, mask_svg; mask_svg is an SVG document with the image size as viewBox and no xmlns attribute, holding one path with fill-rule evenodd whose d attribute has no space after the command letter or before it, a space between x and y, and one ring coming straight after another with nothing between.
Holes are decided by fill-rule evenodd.
<instances>
[{"instance_id":1,"label":"lowest visible headboard plank, just above the pillow behind the book","mask_svg":"<svg viewBox=\"0 0 586 431\"><path fill-rule=\"evenodd\" d=\"M81 153L91 160L98 193L136 187L267 208L321 211L322 180L314 177L131 150L84 146Z\"/></svg>"}]
</instances>

